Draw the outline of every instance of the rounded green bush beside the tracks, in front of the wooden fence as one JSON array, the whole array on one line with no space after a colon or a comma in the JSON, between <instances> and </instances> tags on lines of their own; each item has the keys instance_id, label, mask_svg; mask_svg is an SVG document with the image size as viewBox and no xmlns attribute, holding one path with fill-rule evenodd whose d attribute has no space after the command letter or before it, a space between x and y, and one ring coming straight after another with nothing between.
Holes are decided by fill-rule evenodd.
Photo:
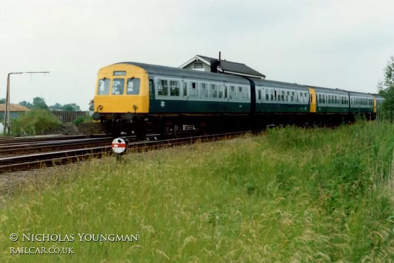
<instances>
[{"instance_id":1,"label":"rounded green bush beside the tracks, in front of the wooden fence","mask_svg":"<svg viewBox=\"0 0 394 263\"><path fill-rule=\"evenodd\" d=\"M11 133L15 135L42 135L60 129L60 120L48 110L32 110L12 121Z\"/></svg>"}]
</instances>

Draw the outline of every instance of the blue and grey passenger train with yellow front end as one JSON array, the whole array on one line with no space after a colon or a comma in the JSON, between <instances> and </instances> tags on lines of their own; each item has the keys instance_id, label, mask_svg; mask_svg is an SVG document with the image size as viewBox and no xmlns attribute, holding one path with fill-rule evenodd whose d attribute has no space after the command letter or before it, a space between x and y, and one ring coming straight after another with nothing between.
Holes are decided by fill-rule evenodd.
<instances>
[{"instance_id":1,"label":"blue and grey passenger train with yellow front end","mask_svg":"<svg viewBox=\"0 0 394 263\"><path fill-rule=\"evenodd\" d=\"M113 137L144 139L148 130L176 135L184 125L204 132L269 124L351 122L376 118L377 94L201 72L138 62L99 69L95 121Z\"/></svg>"}]
</instances>

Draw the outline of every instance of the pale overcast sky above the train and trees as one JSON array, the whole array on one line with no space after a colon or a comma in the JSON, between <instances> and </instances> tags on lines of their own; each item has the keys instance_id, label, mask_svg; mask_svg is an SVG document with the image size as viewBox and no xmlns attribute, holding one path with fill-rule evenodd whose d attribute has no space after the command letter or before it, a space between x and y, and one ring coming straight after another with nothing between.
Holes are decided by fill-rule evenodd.
<instances>
[{"instance_id":1,"label":"pale overcast sky above the train and trees","mask_svg":"<svg viewBox=\"0 0 394 263\"><path fill-rule=\"evenodd\" d=\"M0 98L88 109L99 68L196 54L267 79L376 92L394 55L393 0L1 0Z\"/></svg>"}]
</instances>

